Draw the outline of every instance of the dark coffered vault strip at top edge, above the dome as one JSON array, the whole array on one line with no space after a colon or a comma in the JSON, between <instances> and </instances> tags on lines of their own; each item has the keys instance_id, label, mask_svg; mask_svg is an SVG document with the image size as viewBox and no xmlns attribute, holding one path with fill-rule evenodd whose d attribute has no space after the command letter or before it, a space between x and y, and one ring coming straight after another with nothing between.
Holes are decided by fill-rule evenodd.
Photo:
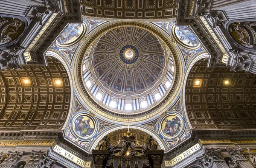
<instances>
[{"instance_id":1,"label":"dark coffered vault strip at top edge, above the dome","mask_svg":"<svg viewBox=\"0 0 256 168\"><path fill-rule=\"evenodd\" d=\"M178 0L82 0L81 6L86 17L159 20L175 19Z\"/></svg>"}]
</instances>

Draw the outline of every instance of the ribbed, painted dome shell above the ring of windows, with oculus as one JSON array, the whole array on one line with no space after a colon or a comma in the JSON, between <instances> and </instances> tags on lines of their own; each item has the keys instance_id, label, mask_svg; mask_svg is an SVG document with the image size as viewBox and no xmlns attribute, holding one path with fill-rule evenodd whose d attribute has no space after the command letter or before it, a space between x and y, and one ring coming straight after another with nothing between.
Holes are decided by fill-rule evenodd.
<instances>
[{"instance_id":1,"label":"ribbed, painted dome shell above the ring of windows, with oculus","mask_svg":"<svg viewBox=\"0 0 256 168\"><path fill-rule=\"evenodd\" d=\"M112 94L132 95L159 83L165 65L158 39L148 31L122 27L97 43L92 66L95 80Z\"/></svg>"}]
</instances>

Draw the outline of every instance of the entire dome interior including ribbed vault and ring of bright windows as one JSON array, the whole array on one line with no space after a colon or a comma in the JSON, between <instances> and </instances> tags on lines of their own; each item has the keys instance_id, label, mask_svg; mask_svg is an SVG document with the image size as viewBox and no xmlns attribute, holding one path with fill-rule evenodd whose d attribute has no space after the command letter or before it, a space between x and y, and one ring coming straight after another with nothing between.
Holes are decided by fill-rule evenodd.
<instances>
[{"instance_id":1,"label":"entire dome interior including ribbed vault and ring of bright windows","mask_svg":"<svg viewBox=\"0 0 256 168\"><path fill-rule=\"evenodd\" d=\"M84 86L107 109L138 113L159 103L172 88L175 64L164 43L144 28L106 31L84 57Z\"/></svg>"}]
</instances>

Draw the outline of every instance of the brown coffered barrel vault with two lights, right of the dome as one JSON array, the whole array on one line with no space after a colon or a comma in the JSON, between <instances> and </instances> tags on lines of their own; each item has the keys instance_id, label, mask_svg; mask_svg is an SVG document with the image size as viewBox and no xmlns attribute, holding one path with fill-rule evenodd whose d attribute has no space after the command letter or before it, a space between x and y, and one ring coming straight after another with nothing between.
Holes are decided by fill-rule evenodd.
<instances>
[{"instance_id":1,"label":"brown coffered barrel vault with two lights, right of the dome","mask_svg":"<svg viewBox=\"0 0 256 168\"><path fill-rule=\"evenodd\" d=\"M256 128L256 75L207 68L207 62L196 62L186 81L186 113L192 127Z\"/></svg>"}]
</instances>

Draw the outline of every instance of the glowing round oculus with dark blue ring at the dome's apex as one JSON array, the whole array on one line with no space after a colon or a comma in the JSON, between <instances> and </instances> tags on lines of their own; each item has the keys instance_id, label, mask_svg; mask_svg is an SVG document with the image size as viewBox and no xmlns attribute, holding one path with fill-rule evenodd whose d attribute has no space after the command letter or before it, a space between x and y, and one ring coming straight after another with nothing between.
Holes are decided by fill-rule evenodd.
<instances>
[{"instance_id":1,"label":"glowing round oculus with dark blue ring at the dome's apex","mask_svg":"<svg viewBox=\"0 0 256 168\"><path fill-rule=\"evenodd\" d=\"M120 50L119 55L120 55L120 59L125 64L133 64L139 58L139 52L137 48L134 47L133 45L125 45Z\"/></svg>"}]
</instances>

